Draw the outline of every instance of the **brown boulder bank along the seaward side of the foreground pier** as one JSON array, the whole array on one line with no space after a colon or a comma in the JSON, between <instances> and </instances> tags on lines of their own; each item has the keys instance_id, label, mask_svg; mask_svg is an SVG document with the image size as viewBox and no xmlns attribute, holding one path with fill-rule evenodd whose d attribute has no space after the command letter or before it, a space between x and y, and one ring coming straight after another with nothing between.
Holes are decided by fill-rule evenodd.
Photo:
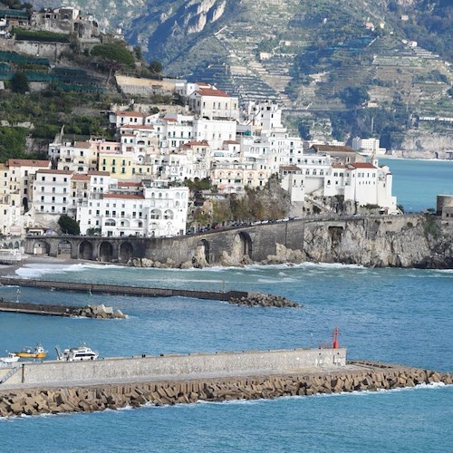
<instances>
[{"instance_id":1,"label":"brown boulder bank along the seaward side of the foreground pier","mask_svg":"<svg viewBox=\"0 0 453 453\"><path fill-rule=\"evenodd\" d=\"M368 370L338 370L297 376L264 375L249 378L134 382L41 390L2 390L0 386L0 417L91 412L126 406L139 407L143 404L162 406L194 403L198 400L274 399L282 396L392 390L435 382L453 383L453 376L449 373L361 363Z\"/></svg>"}]
</instances>

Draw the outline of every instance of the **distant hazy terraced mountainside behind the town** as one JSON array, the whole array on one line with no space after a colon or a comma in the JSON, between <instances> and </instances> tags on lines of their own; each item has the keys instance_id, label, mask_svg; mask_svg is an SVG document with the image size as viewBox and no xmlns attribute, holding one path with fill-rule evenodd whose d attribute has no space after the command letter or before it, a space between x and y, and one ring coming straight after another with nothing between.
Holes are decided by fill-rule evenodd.
<instances>
[{"instance_id":1,"label":"distant hazy terraced mountainside behind the town","mask_svg":"<svg viewBox=\"0 0 453 453\"><path fill-rule=\"evenodd\" d=\"M339 122L354 122L350 135L376 131L354 120L363 108L388 111L399 134L408 125L419 126L420 116L453 117L450 0L79 0L78 5L111 30L120 26L167 74L215 82L243 100L274 99L288 111L331 121L341 139L348 136ZM346 98L354 89L365 96L352 105ZM451 134L446 122L429 129ZM391 141L390 146L398 144Z\"/></svg>"}]
</instances>

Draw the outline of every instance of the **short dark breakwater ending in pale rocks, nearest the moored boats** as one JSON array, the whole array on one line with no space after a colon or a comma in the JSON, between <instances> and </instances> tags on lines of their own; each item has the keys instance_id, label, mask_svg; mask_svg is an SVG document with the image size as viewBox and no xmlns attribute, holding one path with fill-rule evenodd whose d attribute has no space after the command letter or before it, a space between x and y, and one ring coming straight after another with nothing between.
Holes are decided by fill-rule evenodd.
<instances>
[{"instance_id":1,"label":"short dark breakwater ending in pale rocks, nearest the moored boats","mask_svg":"<svg viewBox=\"0 0 453 453\"><path fill-rule=\"evenodd\" d=\"M24 302L11 302L0 300L0 312L43 314L48 316L83 316L86 318L126 318L120 310L113 311L112 307L105 305L86 305L75 307L55 304L31 304Z\"/></svg>"}]
</instances>

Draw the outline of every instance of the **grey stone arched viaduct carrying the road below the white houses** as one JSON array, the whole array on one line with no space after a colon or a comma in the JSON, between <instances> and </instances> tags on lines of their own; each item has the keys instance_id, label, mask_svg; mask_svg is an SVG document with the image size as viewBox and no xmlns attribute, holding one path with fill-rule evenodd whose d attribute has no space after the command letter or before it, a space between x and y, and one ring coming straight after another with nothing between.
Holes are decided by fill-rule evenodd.
<instances>
[{"instance_id":1,"label":"grey stone arched viaduct carrying the road below the white houses","mask_svg":"<svg viewBox=\"0 0 453 453\"><path fill-rule=\"evenodd\" d=\"M263 261L275 255L276 245L292 250L304 249L304 227L321 223L335 231L345 227L346 220L291 220L255 226L238 226L204 234L174 237L102 237L102 236L27 236L25 253L50 255L104 263L127 263L130 258L186 263L202 253L209 265L220 263L224 252L233 259L247 255Z\"/></svg>"}]
</instances>

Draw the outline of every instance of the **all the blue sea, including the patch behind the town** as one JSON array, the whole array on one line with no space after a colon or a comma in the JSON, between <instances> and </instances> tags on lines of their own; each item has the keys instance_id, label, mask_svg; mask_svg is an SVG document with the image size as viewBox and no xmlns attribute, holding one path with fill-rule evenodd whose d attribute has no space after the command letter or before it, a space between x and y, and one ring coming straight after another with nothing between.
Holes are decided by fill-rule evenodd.
<instances>
[{"instance_id":1,"label":"all the blue sea, including the patch behind the town","mask_svg":"<svg viewBox=\"0 0 453 453\"><path fill-rule=\"evenodd\" d=\"M453 162L385 162L394 195L414 211L453 190ZM0 269L1 274L1 269ZM358 265L250 265L189 270L24 265L22 277L280 294L300 308L190 298L72 294L1 287L11 300L105 304L126 320L0 313L0 351L41 342L55 357L86 342L101 356L319 347L340 329L350 359L453 372L453 270ZM3 355L3 354L2 354ZM453 386L199 402L0 419L1 452L451 452Z\"/></svg>"}]
</instances>

